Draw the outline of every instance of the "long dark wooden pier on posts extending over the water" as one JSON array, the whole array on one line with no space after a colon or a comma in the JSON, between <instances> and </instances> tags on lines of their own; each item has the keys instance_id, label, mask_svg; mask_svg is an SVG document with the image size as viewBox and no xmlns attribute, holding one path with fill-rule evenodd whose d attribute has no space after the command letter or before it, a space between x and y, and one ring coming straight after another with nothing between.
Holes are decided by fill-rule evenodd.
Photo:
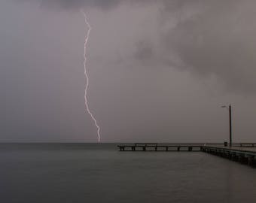
<instances>
[{"instance_id":1,"label":"long dark wooden pier on posts extending over the water","mask_svg":"<svg viewBox=\"0 0 256 203\"><path fill-rule=\"evenodd\" d=\"M241 147L242 146L242 147ZM204 152L215 156L221 156L236 162L256 166L256 144L243 143L237 147L206 146L206 145L163 145L157 143L136 143L117 145L120 151L166 151L166 152Z\"/></svg>"}]
</instances>

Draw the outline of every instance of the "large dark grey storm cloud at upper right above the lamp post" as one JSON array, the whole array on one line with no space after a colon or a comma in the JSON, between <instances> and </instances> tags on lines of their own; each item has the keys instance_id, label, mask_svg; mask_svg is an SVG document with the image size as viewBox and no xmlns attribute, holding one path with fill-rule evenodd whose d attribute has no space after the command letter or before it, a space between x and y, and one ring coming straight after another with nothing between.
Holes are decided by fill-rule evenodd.
<instances>
[{"instance_id":1,"label":"large dark grey storm cloud at upper right above the lamp post","mask_svg":"<svg viewBox=\"0 0 256 203\"><path fill-rule=\"evenodd\" d=\"M227 89L254 92L256 2L217 1L205 5L163 34L165 51L174 50L192 72L217 75Z\"/></svg>"}]
</instances>

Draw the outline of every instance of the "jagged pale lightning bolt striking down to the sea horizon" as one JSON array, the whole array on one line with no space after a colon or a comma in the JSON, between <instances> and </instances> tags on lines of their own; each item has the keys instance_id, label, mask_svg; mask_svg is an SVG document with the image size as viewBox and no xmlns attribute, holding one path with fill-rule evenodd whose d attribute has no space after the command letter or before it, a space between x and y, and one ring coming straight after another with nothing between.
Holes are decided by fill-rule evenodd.
<instances>
[{"instance_id":1,"label":"jagged pale lightning bolt striking down to the sea horizon","mask_svg":"<svg viewBox=\"0 0 256 203\"><path fill-rule=\"evenodd\" d=\"M84 90L84 102L85 102L86 111L88 114L90 114L90 117L92 118L92 120L97 128L97 135L98 135L98 142L99 142L100 141L100 134L99 134L100 127L97 123L96 118L93 116L93 113L90 111L88 101L87 101L87 90L88 90L88 86L89 86L89 76L87 74L87 42L89 40L90 31L91 31L92 27L90 26L90 23L87 20L87 14L85 14L84 11L81 11L81 13L84 15L85 26L88 29L87 34L85 35L85 39L84 39L84 75L86 77L86 85L85 85L85 90Z\"/></svg>"}]
</instances>

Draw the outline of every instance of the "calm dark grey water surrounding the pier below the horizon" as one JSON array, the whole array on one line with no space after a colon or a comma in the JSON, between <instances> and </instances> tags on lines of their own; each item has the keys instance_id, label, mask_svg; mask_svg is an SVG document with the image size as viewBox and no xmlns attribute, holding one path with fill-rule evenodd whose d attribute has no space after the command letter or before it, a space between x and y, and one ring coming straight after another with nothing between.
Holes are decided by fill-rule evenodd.
<instances>
[{"instance_id":1,"label":"calm dark grey water surrounding the pier below the horizon","mask_svg":"<svg viewBox=\"0 0 256 203\"><path fill-rule=\"evenodd\" d=\"M256 202L256 169L200 152L0 144L0 202Z\"/></svg>"}]
</instances>

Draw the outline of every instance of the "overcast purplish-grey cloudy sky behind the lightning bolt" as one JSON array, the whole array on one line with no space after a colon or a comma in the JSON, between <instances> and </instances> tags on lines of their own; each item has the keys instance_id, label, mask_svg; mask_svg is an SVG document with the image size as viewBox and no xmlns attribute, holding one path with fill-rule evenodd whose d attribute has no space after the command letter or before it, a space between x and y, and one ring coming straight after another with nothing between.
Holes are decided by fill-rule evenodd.
<instances>
[{"instance_id":1,"label":"overcast purplish-grey cloudy sky behind the lightning bolt","mask_svg":"<svg viewBox=\"0 0 256 203\"><path fill-rule=\"evenodd\" d=\"M256 141L253 0L1 0L0 141Z\"/></svg>"}]
</instances>

